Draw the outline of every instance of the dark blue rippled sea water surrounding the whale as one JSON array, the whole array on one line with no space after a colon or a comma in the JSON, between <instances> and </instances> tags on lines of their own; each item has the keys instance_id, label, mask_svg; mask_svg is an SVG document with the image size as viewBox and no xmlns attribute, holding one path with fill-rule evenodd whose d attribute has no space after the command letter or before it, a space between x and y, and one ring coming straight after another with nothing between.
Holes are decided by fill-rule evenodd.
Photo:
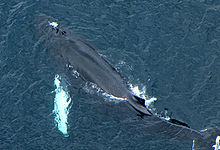
<instances>
[{"instance_id":1,"label":"dark blue rippled sea water surrounding the whale","mask_svg":"<svg viewBox=\"0 0 220 150\"><path fill-rule=\"evenodd\" d=\"M146 86L157 113L167 108L196 130L220 125L220 1L2 0L0 149L191 148L138 127L123 104L77 90L64 137L54 125L56 70L38 43L38 13L88 39L126 81Z\"/></svg>"}]
</instances>

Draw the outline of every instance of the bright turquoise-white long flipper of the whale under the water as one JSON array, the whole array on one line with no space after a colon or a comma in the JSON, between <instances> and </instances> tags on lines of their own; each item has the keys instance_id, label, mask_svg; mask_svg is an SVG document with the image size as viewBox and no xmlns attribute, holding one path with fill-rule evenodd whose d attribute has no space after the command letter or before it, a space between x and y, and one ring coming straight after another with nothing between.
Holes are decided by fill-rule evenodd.
<instances>
[{"instance_id":1,"label":"bright turquoise-white long flipper of the whale under the water","mask_svg":"<svg viewBox=\"0 0 220 150\"><path fill-rule=\"evenodd\" d=\"M68 126L68 114L71 108L71 98L67 91L61 86L61 77L59 75L55 76L54 85L56 89L54 90L54 110L53 113L56 115L54 121L58 129L65 135L68 136L67 126Z\"/></svg>"}]
</instances>

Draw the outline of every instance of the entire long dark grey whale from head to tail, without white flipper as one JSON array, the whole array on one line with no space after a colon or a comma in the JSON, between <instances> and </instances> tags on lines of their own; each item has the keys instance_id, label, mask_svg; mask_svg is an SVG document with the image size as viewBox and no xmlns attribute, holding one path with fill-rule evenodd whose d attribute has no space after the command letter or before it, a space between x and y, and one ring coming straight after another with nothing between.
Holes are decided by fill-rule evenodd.
<instances>
[{"instance_id":1,"label":"entire long dark grey whale from head to tail, without white flipper","mask_svg":"<svg viewBox=\"0 0 220 150\"><path fill-rule=\"evenodd\" d=\"M69 78L74 78L73 71L76 71L81 79L96 84L104 92L127 99L130 106L143 118L143 128L149 129L148 131L160 131L161 134L169 133L180 138L195 140L194 149L211 149L211 143L214 144L216 135L220 134L219 128L199 132L178 120L166 121L152 114L145 107L144 100L132 95L119 73L97 53L93 46L68 29L51 27L49 24L51 21L55 19L45 14L37 15L36 29L40 41L43 41L59 68Z\"/></svg>"}]
</instances>

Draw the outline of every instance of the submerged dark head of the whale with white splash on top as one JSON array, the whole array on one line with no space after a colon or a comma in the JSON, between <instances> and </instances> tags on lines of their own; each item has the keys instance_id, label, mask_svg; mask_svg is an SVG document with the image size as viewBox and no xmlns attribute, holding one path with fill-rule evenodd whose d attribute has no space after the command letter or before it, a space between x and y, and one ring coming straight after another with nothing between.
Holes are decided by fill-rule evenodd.
<instances>
[{"instance_id":1,"label":"submerged dark head of the whale with white splash on top","mask_svg":"<svg viewBox=\"0 0 220 150\"><path fill-rule=\"evenodd\" d=\"M59 25L57 19L45 14L38 14L35 16L35 31L38 44L42 45L44 50L54 58L56 63L64 68L66 60L64 56L68 45L66 44L68 38L63 27Z\"/></svg>"}]
</instances>

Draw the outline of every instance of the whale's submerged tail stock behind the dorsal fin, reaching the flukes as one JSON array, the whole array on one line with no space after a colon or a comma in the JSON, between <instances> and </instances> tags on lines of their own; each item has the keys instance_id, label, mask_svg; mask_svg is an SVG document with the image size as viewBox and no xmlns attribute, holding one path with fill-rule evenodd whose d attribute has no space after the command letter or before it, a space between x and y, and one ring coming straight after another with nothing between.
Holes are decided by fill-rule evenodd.
<instances>
[{"instance_id":1,"label":"whale's submerged tail stock behind the dorsal fin, reaching the flukes","mask_svg":"<svg viewBox=\"0 0 220 150\"><path fill-rule=\"evenodd\" d=\"M159 117L155 117L148 109L146 110L146 112L140 109L141 106L144 106L144 100L142 98L139 98L137 96L134 96L134 98L137 100L135 104L137 105L138 103L138 106L134 108L144 116L151 116L147 117L147 123L150 127L149 130L156 131L158 134L161 135L166 134L164 136L170 136L170 138L174 139L191 139L193 140L192 150L220 150L220 127L212 127L197 131L191 129L186 123L178 121L176 119L159 119ZM173 137L174 135L178 137Z\"/></svg>"}]
</instances>

